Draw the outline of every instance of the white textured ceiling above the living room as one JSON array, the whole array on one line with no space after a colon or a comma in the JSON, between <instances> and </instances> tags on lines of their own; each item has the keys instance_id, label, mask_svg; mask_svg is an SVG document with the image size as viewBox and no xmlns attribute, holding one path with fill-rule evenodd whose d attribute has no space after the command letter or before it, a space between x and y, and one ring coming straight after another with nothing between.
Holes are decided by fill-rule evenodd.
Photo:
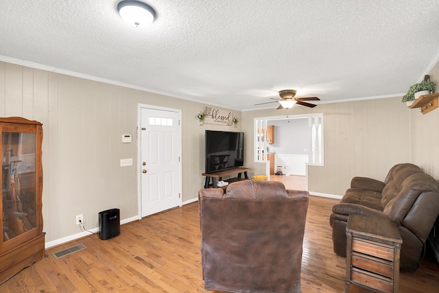
<instances>
[{"instance_id":1,"label":"white textured ceiling above the living room","mask_svg":"<svg viewBox=\"0 0 439 293\"><path fill-rule=\"evenodd\" d=\"M438 0L148 0L143 28L118 2L0 0L0 60L236 110L398 96L439 60Z\"/></svg>"}]
</instances>

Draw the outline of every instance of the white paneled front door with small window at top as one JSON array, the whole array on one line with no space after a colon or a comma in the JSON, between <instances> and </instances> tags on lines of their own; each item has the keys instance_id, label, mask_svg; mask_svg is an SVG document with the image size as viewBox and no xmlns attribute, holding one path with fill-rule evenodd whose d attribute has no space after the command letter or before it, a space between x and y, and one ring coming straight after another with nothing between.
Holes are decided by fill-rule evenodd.
<instances>
[{"instance_id":1,"label":"white paneled front door with small window at top","mask_svg":"<svg viewBox=\"0 0 439 293\"><path fill-rule=\"evenodd\" d=\"M181 205L180 114L141 108L141 215Z\"/></svg>"}]
</instances>

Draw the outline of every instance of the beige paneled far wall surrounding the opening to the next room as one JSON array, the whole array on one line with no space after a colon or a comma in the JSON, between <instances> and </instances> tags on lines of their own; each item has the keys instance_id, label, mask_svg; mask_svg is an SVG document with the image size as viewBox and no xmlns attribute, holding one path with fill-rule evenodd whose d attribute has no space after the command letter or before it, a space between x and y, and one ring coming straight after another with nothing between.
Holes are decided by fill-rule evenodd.
<instances>
[{"instance_id":1,"label":"beige paneled far wall surrounding the opening to the next room","mask_svg":"<svg viewBox=\"0 0 439 293\"><path fill-rule=\"evenodd\" d=\"M248 111L243 112L243 128L250 133L254 117L302 113L324 113L324 166L309 166L310 193L342 196L354 176L383 180L390 167L410 162L410 111L399 97ZM252 154L247 152L246 162L248 156ZM249 167L263 174L261 165Z\"/></svg>"}]
</instances>

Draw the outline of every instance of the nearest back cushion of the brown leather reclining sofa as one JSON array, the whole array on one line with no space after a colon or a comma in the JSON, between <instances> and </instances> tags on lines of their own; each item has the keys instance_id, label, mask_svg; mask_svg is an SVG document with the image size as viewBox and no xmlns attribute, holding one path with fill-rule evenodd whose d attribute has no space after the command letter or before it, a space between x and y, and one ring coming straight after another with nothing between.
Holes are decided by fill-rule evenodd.
<instances>
[{"instance_id":1,"label":"nearest back cushion of the brown leather reclining sofa","mask_svg":"<svg viewBox=\"0 0 439 293\"><path fill-rule=\"evenodd\" d=\"M419 194L438 190L438 182L429 174L413 174L403 181L401 191L386 204L383 213L399 226Z\"/></svg>"}]
</instances>

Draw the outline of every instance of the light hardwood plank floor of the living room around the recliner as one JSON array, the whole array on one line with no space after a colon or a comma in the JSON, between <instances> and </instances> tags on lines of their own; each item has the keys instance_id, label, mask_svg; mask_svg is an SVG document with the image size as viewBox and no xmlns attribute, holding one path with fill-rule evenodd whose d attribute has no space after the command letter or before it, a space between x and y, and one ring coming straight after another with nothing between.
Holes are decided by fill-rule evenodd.
<instances>
[{"instance_id":1,"label":"light hardwood plank floor of the living room around the recliner","mask_svg":"<svg viewBox=\"0 0 439 293\"><path fill-rule=\"evenodd\" d=\"M310 196L302 256L302 292L344 292L345 259L333 253L329 215L338 200ZM76 244L86 249L55 259ZM429 258L429 257L427 257ZM43 261L0 285L0 292L209 292L200 262L198 202L46 250ZM400 292L438 292L439 269L425 259L401 272ZM351 288L351 292L368 292Z\"/></svg>"}]
</instances>

